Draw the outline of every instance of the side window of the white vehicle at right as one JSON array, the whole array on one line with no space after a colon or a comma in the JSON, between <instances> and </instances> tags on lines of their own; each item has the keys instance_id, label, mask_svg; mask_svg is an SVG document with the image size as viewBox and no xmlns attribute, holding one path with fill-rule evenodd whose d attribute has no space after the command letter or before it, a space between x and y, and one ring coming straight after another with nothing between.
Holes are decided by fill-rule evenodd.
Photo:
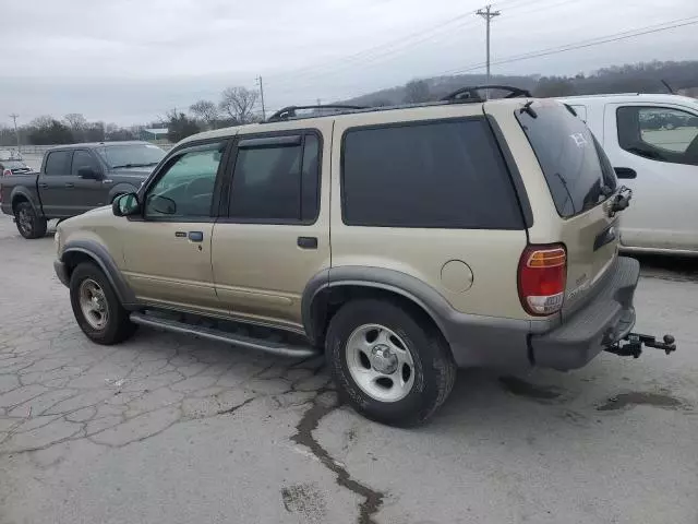
<instances>
[{"instance_id":1,"label":"side window of the white vehicle at right","mask_svg":"<svg viewBox=\"0 0 698 524\"><path fill-rule=\"evenodd\" d=\"M698 116L667 107L619 107L618 142L628 153L698 166Z\"/></svg>"}]
</instances>

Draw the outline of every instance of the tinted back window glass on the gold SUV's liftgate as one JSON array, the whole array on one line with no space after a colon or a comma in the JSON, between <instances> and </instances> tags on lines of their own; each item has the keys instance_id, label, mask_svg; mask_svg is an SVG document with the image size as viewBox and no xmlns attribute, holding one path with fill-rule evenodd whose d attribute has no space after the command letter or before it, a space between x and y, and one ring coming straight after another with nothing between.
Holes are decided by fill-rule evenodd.
<instances>
[{"instance_id":1,"label":"tinted back window glass on the gold SUV's liftgate","mask_svg":"<svg viewBox=\"0 0 698 524\"><path fill-rule=\"evenodd\" d=\"M558 104L537 104L535 114L517 110L563 217L597 206L616 189L605 153L587 124Z\"/></svg>"}]
</instances>

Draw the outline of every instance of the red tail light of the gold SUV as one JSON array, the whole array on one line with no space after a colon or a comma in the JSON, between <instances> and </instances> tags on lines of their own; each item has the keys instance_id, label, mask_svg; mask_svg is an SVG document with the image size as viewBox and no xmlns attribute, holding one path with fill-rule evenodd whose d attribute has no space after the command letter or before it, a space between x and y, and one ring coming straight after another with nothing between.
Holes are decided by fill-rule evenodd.
<instances>
[{"instance_id":1,"label":"red tail light of the gold SUV","mask_svg":"<svg viewBox=\"0 0 698 524\"><path fill-rule=\"evenodd\" d=\"M559 311L567 282L567 251L562 243L529 246L519 261L519 298L530 314Z\"/></svg>"}]
</instances>

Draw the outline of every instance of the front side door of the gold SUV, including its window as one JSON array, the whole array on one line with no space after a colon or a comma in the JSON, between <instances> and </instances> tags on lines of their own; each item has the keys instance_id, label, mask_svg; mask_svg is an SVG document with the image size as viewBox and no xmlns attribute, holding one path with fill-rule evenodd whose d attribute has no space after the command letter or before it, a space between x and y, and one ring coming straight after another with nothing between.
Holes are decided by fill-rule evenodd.
<instances>
[{"instance_id":1,"label":"front side door of the gold SUV, including its window","mask_svg":"<svg viewBox=\"0 0 698 524\"><path fill-rule=\"evenodd\" d=\"M123 233L124 274L149 305L215 312L210 267L214 195L228 141L177 152L141 191L142 214Z\"/></svg>"}]
</instances>

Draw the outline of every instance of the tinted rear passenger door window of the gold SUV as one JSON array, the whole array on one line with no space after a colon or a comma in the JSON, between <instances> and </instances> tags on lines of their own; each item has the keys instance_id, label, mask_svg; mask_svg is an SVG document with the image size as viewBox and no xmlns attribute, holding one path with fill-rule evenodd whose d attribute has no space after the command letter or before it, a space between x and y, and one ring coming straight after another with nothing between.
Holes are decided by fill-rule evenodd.
<instances>
[{"instance_id":1,"label":"tinted rear passenger door window of the gold SUV","mask_svg":"<svg viewBox=\"0 0 698 524\"><path fill-rule=\"evenodd\" d=\"M313 222L317 217L318 191L320 140L316 135L240 141L230 192L231 218Z\"/></svg>"}]
</instances>

